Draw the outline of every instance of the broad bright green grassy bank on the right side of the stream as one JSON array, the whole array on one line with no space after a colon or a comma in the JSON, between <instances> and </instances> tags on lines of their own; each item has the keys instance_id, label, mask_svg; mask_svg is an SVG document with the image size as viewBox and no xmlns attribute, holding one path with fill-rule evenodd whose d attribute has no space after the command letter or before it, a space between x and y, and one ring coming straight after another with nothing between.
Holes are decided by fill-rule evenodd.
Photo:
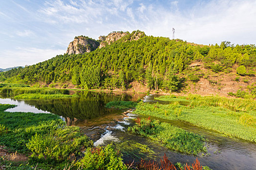
<instances>
[{"instance_id":1,"label":"broad bright green grassy bank on the right side of the stream","mask_svg":"<svg viewBox=\"0 0 256 170\"><path fill-rule=\"evenodd\" d=\"M158 100L168 101L169 98L164 96ZM184 106L178 102L140 102L135 113L162 119L184 120L228 136L256 142L256 101L199 95L178 98L190 100L190 104Z\"/></svg>"}]
</instances>

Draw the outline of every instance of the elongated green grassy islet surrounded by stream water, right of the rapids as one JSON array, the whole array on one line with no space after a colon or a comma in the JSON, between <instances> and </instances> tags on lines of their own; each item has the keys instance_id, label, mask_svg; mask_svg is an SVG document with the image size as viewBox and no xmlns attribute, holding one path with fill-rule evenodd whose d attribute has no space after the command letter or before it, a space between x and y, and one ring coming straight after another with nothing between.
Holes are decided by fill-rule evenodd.
<instances>
[{"instance_id":1,"label":"elongated green grassy islet surrounded by stream water, right of the rapids","mask_svg":"<svg viewBox=\"0 0 256 170\"><path fill-rule=\"evenodd\" d=\"M205 138L158 120L136 119L137 124L128 131L163 142L166 147L181 153L197 155L207 152Z\"/></svg>"}]
</instances>

